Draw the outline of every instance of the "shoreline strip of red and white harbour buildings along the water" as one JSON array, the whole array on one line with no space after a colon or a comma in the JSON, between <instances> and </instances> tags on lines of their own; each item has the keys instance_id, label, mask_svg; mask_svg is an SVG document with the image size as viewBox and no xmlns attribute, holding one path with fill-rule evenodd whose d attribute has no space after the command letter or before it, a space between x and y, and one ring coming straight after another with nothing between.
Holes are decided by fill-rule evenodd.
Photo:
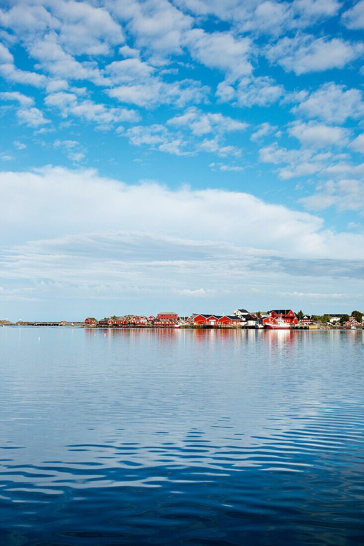
<instances>
[{"instance_id":1,"label":"shoreline strip of red and white harbour buildings along the water","mask_svg":"<svg viewBox=\"0 0 364 546\"><path fill-rule=\"evenodd\" d=\"M15 324L8 319L0 321L2 326L73 326L83 328L235 328L235 329L362 329L363 313L353 311L348 314L334 313L308 315L292 309L273 309L271 311L247 311L236 309L232 314L192 313L180 316L176 312L156 313L156 316L125 314L124 316L86 317L79 321L22 321Z\"/></svg>"}]
</instances>

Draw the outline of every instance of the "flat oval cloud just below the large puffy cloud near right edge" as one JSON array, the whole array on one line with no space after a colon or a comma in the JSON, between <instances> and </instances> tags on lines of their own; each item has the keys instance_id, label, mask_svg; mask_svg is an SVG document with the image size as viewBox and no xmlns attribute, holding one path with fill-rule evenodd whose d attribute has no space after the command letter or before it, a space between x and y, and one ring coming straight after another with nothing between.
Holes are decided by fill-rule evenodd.
<instances>
[{"instance_id":1,"label":"flat oval cloud just below the large puffy cloud near right edge","mask_svg":"<svg viewBox=\"0 0 364 546\"><path fill-rule=\"evenodd\" d=\"M332 127L319 123L296 122L289 128L301 144L324 148L326 146L345 146L349 140L349 131L343 127Z\"/></svg>"}]
</instances>

